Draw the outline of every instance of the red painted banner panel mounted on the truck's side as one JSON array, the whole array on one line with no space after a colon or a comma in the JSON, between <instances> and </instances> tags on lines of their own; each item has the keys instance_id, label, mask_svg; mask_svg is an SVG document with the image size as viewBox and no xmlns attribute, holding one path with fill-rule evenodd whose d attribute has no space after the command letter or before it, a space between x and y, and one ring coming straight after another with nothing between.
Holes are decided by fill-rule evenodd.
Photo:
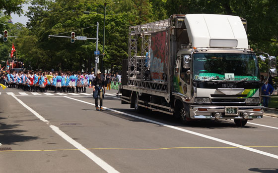
<instances>
[{"instance_id":1,"label":"red painted banner panel mounted on the truck's side","mask_svg":"<svg viewBox=\"0 0 278 173\"><path fill-rule=\"evenodd\" d=\"M152 81L165 81L166 56L166 31L151 34L150 43L150 76Z\"/></svg>"}]
</instances>

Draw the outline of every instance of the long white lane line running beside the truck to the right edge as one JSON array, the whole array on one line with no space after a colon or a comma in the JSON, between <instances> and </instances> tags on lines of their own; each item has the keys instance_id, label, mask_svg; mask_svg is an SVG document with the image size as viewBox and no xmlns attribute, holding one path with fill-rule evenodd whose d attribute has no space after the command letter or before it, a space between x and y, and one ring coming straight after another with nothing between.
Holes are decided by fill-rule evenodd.
<instances>
[{"instance_id":1,"label":"long white lane line running beside the truck to the right edge","mask_svg":"<svg viewBox=\"0 0 278 173\"><path fill-rule=\"evenodd\" d=\"M95 106L95 104L89 103L89 102L86 102L86 101L83 101L83 100L78 100L78 99L71 98L71 97L68 97L68 96L64 96L64 97ZM227 144L227 145L235 146L235 147L238 147L238 148L241 148L241 149L244 149L244 150L248 150L248 151L251 151L251 152L254 152L254 153L258 153L258 154L262 154L262 155L265 155L265 156L269 156L269 157L278 159L278 155L267 153L267 152L264 152L264 151L261 151L261 150L257 150L257 149L254 149L254 148L246 147L246 146L243 146L243 145L240 145L240 144L229 142L227 140L222 140L222 139L219 139L219 138L216 138L216 137L212 137L212 136L209 136L209 135L206 135L206 134L202 134L202 133L198 133L198 132L191 131L191 130L177 128L175 126L170 126L170 125L167 125L167 124L164 124L164 123L160 123L160 122L157 122L157 121L153 121L153 120L149 120L149 119L146 119L146 118L138 117L136 115L132 115L132 114L128 114L128 113L125 113L125 112L117 111L117 110L110 109L110 108L107 108L107 107L103 107L103 108L106 109L106 110L109 110L109 111L113 111L113 112L117 112L117 113L120 113L120 114L124 114L124 115L130 116L130 117L133 117L133 118L137 118L137 119L140 119L140 120L143 120L143 121L146 121L146 122L150 122L150 123L153 123L153 124L161 125L161 126L164 126L164 127L167 127L167 128L175 129L175 130L184 131L184 132L187 132L187 133L190 133L190 134L194 134L194 135L197 135L197 136L200 136L200 137L204 137L204 138L207 138L207 139L210 139L210 140L214 140L214 141L221 142L221 143L224 143L224 144Z\"/></svg>"}]
</instances>

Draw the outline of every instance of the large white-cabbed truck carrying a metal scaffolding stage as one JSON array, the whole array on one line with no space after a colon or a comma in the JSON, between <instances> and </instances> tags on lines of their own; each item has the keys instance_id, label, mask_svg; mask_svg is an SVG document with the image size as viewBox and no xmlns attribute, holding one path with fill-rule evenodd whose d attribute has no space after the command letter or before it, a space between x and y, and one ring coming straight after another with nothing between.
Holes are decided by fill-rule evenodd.
<instances>
[{"instance_id":1,"label":"large white-cabbed truck carrying a metal scaffolding stage","mask_svg":"<svg viewBox=\"0 0 278 173\"><path fill-rule=\"evenodd\" d=\"M263 117L258 60L276 57L250 49L247 21L214 14L171 15L129 28L122 70L122 104L179 117L233 119L237 126ZM267 56L267 57L266 57Z\"/></svg>"}]
</instances>

